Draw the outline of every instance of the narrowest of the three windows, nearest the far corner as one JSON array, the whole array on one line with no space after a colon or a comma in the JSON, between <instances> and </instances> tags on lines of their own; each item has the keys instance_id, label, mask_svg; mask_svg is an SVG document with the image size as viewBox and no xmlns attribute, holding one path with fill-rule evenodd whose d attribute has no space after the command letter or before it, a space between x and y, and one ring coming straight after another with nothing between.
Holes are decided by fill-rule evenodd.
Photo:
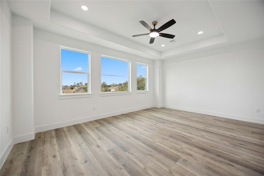
<instances>
[{"instance_id":1,"label":"narrowest of the three windows, nearest the far corner","mask_svg":"<svg viewBox=\"0 0 264 176\"><path fill-rule=\"evenodd\" d=\"M137 63L137 91L148 91L148 65Z\"/></svg>"}]
</instances>

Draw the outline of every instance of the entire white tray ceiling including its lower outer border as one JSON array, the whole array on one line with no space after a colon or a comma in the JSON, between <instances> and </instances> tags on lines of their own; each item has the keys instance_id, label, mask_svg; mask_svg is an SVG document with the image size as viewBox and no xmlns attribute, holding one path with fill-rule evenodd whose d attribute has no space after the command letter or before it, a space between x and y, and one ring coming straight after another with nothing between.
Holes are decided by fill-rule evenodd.
<instances>
[{"instance_id":1,"label":"entire white tray ceiling including its lower outer border","mask_svg":"<svg viewBox=\"0 0 264 176\"><path fill-rule=\"evenodd\" d=\"M88 11L80 8L88 6ZM200 48L263 37L263 1L8 1L12 13L36 28L150 59L167 59ZM164 30L175 36L149 44L139 21L150 26L175 19ZM204 31L198 35L198 31ZM161 47L165 44L165 47Z\"/></svg>"}]
</instances>

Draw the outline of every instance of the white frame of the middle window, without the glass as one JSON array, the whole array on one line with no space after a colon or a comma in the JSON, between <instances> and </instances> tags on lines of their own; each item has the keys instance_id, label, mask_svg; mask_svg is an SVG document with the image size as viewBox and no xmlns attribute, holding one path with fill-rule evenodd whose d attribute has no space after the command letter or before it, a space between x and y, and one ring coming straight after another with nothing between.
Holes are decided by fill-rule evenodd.
<instances>
[{"instance_id":1,"label":"white frame of the middle window, without the glass","mask_svg":"<svg viewBox=\"0 0 264 176\"><path fill-rule=\"evenodd\" d=\"M108 56L108 55L101 54L100 63L101 63L102 57L106 57L106 58L109 58L109 59L121 60L121 61L128 62L128 65L127 65L127 72L128 72L128 91L127 92L101 92L101 96L131 94L131 60L121 59L121 58L118 58L118 57L113 57L113 56ZM100 64L100 65L102 65L102 64ZM101 67L101 69L102 69L102 67ZM115 76L115 75L112 75L112 76ZM102 70L101 70L101 84L102 84Z\"/></svg>"}]
</instances>

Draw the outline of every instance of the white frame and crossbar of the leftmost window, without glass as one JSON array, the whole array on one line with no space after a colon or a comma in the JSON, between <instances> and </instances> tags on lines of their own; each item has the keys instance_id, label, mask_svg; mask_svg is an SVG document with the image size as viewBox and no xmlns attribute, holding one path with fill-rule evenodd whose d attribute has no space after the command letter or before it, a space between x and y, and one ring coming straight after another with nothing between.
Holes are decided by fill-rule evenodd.
<instances>
[{"instance_id":1,"label":"white frame and crossbar of the leftmost window, without glass","mask_svg":"<svg viewBox=\"0 0 264 176\"><path fill-rule=\"evenodd\" d=\"M61 50L69 50L69 51L74 51L74 52L79 52L79 53L85 53L88 54L88 72L79 72L79 71L69 71L69 70L61 70ZM84 97L90 97L87 95L91 95L91 52L89 51L85 51L85 50L79 50L76 48L71 48L71 47L67 47L67 46L60 46L59 48L59 70L60 70L60 94L59 96L65 96L64 98L60 98L60 99L65 99L67 97L69 98L77 98L80 97L80 95L86 95ZM87 92L85 93L71 93L71 94L63 94L62 93L62 73L79 73L79 74L86 74L87 75ZM73 96L76 95L76 96Z\"/></svg>"}]
</instances>

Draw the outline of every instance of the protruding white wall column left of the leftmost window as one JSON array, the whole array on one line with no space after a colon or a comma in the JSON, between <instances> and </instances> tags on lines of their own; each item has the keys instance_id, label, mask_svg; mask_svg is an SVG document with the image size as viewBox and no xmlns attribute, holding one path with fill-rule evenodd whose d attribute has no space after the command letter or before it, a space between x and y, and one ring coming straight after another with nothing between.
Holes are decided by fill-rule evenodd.
<instances>
[{"instance_id":1,"label":"protruding white wall column left of the leftmost window","mask_svg":"<svg viewBox=\"0 0 264 176\"><path fill-rule=\"evenodd\" d=\"M34 138L33 119L33 24L13 15L13 136L14 143Z\"/></svg>"}]
</instances>

